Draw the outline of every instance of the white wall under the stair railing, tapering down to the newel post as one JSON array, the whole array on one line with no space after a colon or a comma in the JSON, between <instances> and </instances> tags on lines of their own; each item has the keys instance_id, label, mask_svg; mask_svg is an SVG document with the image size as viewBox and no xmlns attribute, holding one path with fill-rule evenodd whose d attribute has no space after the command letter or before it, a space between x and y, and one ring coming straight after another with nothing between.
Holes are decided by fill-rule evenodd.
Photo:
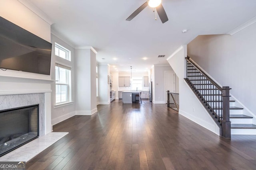
<instances>
[{"instance_id":1,"label":"white wall under the stair railing, tapering down to the newel post","mask_svg":"<svg viewBox=\"0 0 256 170\"><path fill-rule=\"evenodd\" d=\"M186 45L175 51L167 61L172 66L179 80L179 113L210 131L220 135L220 128L216 125L209 113L204 109L198 98L184 80Z\"/></svg>"}]
</instances>

